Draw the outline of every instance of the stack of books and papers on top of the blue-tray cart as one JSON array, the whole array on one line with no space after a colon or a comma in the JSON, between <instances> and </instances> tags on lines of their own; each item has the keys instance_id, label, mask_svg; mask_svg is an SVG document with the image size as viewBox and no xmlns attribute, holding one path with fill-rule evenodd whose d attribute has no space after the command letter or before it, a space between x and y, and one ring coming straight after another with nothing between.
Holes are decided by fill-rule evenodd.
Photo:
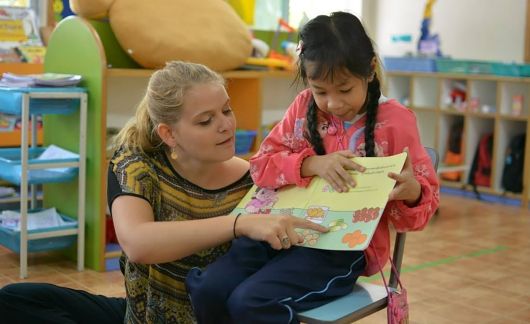
<instances>
[{"instance_id":1,"label":"stack of books and papers on top of the blue-tray cart","mask_svg":"<svg viewBox=\"0 0 530 324\"><path fill-rule=\"evenodd\" d=\"M67 87L76 86L82 77L77 74L42 73L42 74L14 74L3 73L0 87Z\"/></svg>"}]
</instances>

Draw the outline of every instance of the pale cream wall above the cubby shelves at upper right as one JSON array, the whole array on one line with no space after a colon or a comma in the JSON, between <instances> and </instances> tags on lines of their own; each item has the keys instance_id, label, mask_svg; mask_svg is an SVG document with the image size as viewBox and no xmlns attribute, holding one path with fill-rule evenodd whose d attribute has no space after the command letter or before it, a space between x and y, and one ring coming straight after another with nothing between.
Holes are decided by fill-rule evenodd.
<instances>
[{"instance_id":1,"label":"pale cream wall above the cubby shelves at upper right","mask_svg":"<svg viewBox=\"0 0 530 324\"><path fill-rule=\"evenodd\" d=\"M415 50L426 0L365 0L364 21L381 55ZM526 0L438 0L431 33L458 59L523 62ZM411 34L412 43L392 43Z\"/></svg>"}]
</instances>

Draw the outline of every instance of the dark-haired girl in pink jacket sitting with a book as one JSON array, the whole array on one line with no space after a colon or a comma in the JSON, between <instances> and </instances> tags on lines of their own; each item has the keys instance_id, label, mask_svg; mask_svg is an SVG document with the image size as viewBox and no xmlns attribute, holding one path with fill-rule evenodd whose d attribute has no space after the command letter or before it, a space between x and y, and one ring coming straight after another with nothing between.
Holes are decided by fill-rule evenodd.
<instances>
[{"instance_id":1,"label":"dark-haired girl in pink jacket sitting with a book","mask_svg":"<svg viewBox=\"0 0 530 324\"><path fill-rule=\"evenodd\" d=\"M264 188L305 187L320 176L335 190L363 171L353 156L408 151L378 228L365 251L293 246L282 251L238 239L227 255L190 271L186 284L199 323L297 323L296 312L345 295L359 275L372 275L389 256L389 222L398 231L421 230L438 206L438 181L414 113L381 95L377 58L355 16L336 12L309 21L300 33L299 78L309 87L251 159L254 182ZM295 237L296 238L296 237Z\"/></svg>"}]
</instances>

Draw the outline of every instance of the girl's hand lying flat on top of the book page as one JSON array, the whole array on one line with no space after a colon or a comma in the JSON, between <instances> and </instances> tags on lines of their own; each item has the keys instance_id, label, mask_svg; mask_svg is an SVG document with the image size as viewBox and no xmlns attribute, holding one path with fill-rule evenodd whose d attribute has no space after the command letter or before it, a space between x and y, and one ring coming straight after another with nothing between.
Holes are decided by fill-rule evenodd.
<instances>
[{"instance_id":1,"label":"girl's hand lying flat on top of the book page","mask_svg":"<svg viewBox=\"0 0 530 324\"><path fill-rule=\"evenodd\" d=\"M347 170L364 172L364 167L353 162L352 157L355 157L355 154L350 150L307 157L302 162L302 176L318 175L326 180L335 191L346 192L348 185L355 187L355 181Z\"/></svg>"}]
</instances>

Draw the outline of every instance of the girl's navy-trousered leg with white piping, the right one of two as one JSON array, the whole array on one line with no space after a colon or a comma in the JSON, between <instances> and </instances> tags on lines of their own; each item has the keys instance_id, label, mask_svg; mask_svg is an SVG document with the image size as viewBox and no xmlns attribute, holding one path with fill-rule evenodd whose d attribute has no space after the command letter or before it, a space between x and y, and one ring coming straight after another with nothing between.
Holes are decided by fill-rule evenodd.
<instances>
[{"instance_id":1,"label":"girl's navy-trousered leg with white piping, the right one of two","mask_svg":"<svg viewBox=\"0 0 530 324\"><path fill-rule=\"evenodd\" d=\"M362 251L293 247L234 290L230 316L235 323L298 323L297 312L350 293L365 265Z\"/></svg>"}]
</instances>

